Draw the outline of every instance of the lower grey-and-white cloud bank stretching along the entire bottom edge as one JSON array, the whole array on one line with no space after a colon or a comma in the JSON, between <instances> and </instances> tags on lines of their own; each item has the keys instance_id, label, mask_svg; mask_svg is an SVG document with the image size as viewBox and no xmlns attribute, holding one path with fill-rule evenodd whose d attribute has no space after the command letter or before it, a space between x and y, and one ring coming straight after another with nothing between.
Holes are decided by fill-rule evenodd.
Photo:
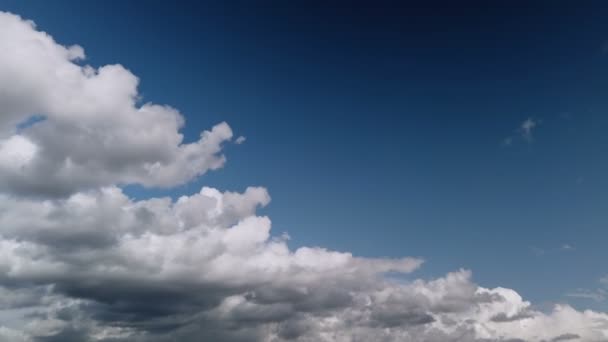
<instances>
[{"instance_id":1,"label":"lower grey-and-white cloud bank stretching along the entire bottom edge","mask_svg":"<svg viewBox=\"0 0 608 342\"><path fill-rule=\"evenodd\" d=\"M175 201L134 201L116 187L3 196L0 304L24 316L10 329L32 341L608 338L608 315L540 312L513 290L479 287L469 271L398 280L385 274L422 261L292 250L255 212L269 200L263 188L203 188Z\"/></svg>"}]
</instances>

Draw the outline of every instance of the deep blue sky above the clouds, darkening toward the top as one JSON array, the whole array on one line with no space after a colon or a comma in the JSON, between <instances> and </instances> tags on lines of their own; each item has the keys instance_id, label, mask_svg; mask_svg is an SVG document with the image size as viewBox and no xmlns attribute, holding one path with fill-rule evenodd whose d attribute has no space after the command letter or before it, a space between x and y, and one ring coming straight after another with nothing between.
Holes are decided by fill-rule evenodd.
<instances>
[{"instance_id":1,"label":"deep blue sky above the clouds, darkening toward the top","mask_svg":"<svg viewBox=\"0 0 608 342\"><path fill-rule=\"evenodd\" d=\"M262 185L294 247L421 256L417 275L470 268L548 302L608 273L608 2L569 3L0 9L133 71L188 139L220 121L247 137L224 169L153 193ZM528 118L531 141L517 132Z\"/></svg>"}]
</instances>

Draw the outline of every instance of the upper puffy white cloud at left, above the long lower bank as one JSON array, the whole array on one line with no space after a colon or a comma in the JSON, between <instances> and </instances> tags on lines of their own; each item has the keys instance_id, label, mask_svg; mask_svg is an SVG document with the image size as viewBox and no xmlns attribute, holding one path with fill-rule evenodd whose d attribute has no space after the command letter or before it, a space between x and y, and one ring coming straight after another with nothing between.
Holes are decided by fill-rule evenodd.
<instances>
[{"instance_id":1,"label":"upper puffy white cloud at left, above the long lower bank","mask_svg":"<svg viewBox=\"0 0 608 342\"><path fill-rule=\"evenodd\" d=\"M138 104L121 65L81 65L32 22L0 13L0 187L64 196L112 184L170 187L224 164L226 123L184 143L180 113ZM32 118L39 118L32 120ZM25 124L24 124L25 123Z\"/></svg>"}]
</instances>

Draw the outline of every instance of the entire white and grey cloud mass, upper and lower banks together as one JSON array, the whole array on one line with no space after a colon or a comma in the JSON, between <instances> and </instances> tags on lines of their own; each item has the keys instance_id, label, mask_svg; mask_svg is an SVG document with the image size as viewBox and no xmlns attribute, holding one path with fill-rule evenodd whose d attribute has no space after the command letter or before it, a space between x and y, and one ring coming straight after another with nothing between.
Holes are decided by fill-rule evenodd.
<instances>
[{"instance_id":1,"label":"entire white and grey cloud mass, upper and lower banks together","mask_svg":"<svg viewBox=\"0 0 608 342\"><path fill-rule=\"evenodd\" d=\"M15 15L0 47L0 341L608 339L604 313L541 312L468 270L423 280L419 258L290 248L262 187L133 200L122 185L222 166L229 126L184 143L133 74Z\"/></svg>"}]
</instances>

